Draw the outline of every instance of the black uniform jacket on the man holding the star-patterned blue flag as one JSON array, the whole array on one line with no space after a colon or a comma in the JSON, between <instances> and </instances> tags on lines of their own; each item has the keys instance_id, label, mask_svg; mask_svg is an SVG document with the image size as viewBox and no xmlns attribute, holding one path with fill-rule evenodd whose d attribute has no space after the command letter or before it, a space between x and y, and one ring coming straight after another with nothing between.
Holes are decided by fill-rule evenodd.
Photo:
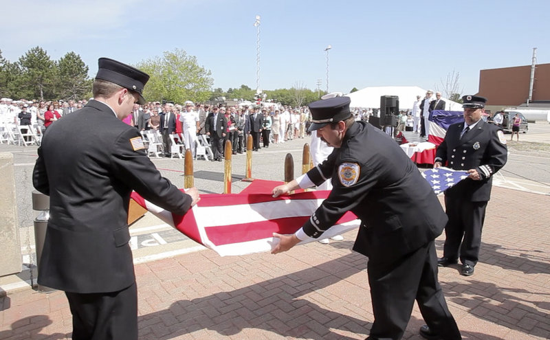
<instances>
[{"instance_id":1,"label":"black uniform jacket on the man holding the star-patterned blue flag","mask_svg":"<svg viewBox=\"0 0 550 340\"><path fill-rule=\"evenodd\" d=\"M439 145L435 161L453 170L476 169L481 181L464 179L445 191L445 195L461 197L466 201L489 201L491 196L492 174L502 168L507 161L507 148L501 129L484 120L479 120L472 131L460 135L464 122L449 126L445 139ZM503 140L501 141L500 138Z\"/></svg>"}]
</instances>

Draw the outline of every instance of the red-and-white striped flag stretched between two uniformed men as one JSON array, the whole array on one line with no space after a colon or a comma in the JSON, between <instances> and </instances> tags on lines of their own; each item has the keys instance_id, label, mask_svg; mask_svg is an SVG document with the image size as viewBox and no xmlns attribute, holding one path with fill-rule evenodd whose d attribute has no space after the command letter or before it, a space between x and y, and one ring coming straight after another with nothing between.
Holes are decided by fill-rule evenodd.
<instances>
[{"instance_id":1,"label":"red-and-white striped flag stretched between two uniformed men","mask_svg":"<svg viewBox=\"0 0 550 340\"><path fill-rule=\"evenodd\" d=\"M271 251L275 242L278 242L273 233L294 234L329 193L300 192L276 198L271 194L254 193L201 194L199 203L185 216L171 214L145 201L136 192L132 192L131 198L195 242L221 256L236 256ZM325 231L322 238L343 234L359 225L357 217L348 212L336 225Z\"/></svg>"}]
</instances>

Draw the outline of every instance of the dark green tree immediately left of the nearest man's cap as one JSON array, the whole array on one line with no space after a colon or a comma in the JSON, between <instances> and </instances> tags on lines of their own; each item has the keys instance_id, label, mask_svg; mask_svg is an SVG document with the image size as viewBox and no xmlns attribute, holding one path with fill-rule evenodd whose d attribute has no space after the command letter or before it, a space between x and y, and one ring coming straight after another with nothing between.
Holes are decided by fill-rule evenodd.
<instances>
[{"instance_id":1,"label":"dark green tree immediately left of the nearest man's cap","mask_svg":"<svg viewBox=\"0 0 550 340\"><path fill-rule=\"evenodd\" d=\"M58 62L59 87L61 97L65 99L85 98L91 91L91 82L88 79L89 67L82 58L74 52L68 52Z\"/></svg>"}]
</instances>

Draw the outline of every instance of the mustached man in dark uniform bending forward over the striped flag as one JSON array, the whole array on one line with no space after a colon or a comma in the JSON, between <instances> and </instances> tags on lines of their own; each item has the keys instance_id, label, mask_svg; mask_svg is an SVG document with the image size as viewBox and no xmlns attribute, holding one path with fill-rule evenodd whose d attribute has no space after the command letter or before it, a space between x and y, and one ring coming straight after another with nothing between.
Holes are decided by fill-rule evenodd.
<instances>
[{"instance_id":1,"label":"mustached man in dark uniform bending forward over the striped flag","mask_svg":"<svg viewBox=\"0 0 550 340\"><path fill-rule=\"evenodd\" d=\"M447 217L428 182L399 146L379 129L355 122L348 97L309 105L311 130L334 150L274 196L331 179L333 190L303 227L280 238L272 253L320 238L347 211L362 221L353 250L369 257L374 322L367 339L401 339L415 299L431 328L423 336L461 339L437 280L434 239Z\"/></svg>"}]
</instances>

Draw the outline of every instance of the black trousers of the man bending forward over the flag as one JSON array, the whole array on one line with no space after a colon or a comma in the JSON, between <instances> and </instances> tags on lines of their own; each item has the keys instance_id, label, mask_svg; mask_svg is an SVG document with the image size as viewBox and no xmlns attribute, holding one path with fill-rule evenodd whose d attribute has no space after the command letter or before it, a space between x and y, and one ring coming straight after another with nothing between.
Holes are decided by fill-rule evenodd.
<instances>
[{"instance_id":1,"label":"black trousers of the man bending forward over the flag","mask_svg":"<svg viewBox=\"0 0 550 340\"><path fill-rule=\"evenodd\" d=\"M367 339L403 337L415 300L430 330L441 339L461 339L439 281L434 241L391 264L369 261L369 284L374 322Z\"/></svg>"}]
</instances>

